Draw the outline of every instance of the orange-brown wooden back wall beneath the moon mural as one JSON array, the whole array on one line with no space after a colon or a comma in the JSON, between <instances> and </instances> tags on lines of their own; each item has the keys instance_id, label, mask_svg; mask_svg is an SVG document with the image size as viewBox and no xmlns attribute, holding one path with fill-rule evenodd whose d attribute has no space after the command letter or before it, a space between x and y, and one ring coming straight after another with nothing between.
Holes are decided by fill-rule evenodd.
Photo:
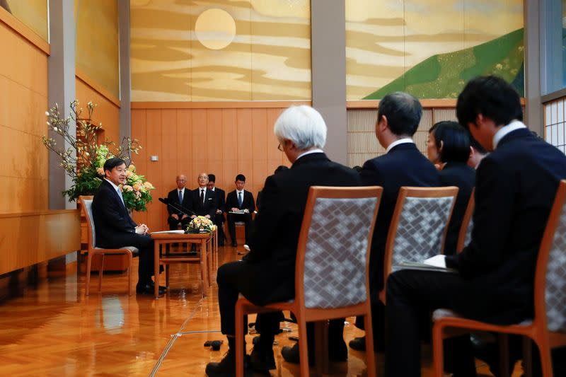
<instances>
[{"instance_id":1,"label":"orange-brown wooden back wall beneath the moon mural","mask_svg":"<svg viewBox=\"0 0 566 377\"><path fill-rule=\"evenodd\" d=\"M246 175L246 189L257 197L267 175L289 161L277 150L273 135L275 120L288 103L280 108L175 108L171 103L151 103L147 108L132 108L132 137L143 149L136 159L138 173L156 186L154 202L147 213L134 219L151 230L167 227L166 207L158 202L175 188L175 176L187 175L187 187L197 187L199 173L214 173L216 185L226 192L234 190L238 173ZM150 161L150 156L158 161Z\"/></svg>"}]
</instances>

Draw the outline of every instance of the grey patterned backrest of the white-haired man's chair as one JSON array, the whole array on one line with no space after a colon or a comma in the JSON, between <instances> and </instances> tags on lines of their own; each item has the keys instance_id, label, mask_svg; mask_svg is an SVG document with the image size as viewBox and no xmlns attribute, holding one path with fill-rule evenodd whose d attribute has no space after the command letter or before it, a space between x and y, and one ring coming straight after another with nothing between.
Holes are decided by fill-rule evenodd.
<instances>
[{"instance_id":1,"label":"grey patterned backrest of the white-haired man's chair","mask_svg":"<svg viewBox=\"0 0 566 377\"><path fill-rule=\"evenodd\" d=\"M296 257L296 300L342 308L369 297L369 250L382 187L320 187L308 192Z\"/></svg>"}]
</instances>

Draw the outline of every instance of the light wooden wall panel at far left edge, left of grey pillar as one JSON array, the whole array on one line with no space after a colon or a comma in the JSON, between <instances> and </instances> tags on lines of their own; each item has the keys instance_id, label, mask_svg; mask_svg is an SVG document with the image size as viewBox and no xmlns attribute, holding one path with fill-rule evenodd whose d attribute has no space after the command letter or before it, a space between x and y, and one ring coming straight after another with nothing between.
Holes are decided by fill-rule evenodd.
<instances>
[{"instance_id":1,"label":"light wooden wall panel at far left edge, left of grey pillar","mask_svg":"<svg viewBox=\"0 0 566 377\"><path fill-rule=\"evenodd\" d=\"M11 15L6 14L10 20ZM10 21L6 19L6 21ZM0 20L0 214L48 207L47 51ZM22 28L26 28L22 26Z\"/></svg>"}]
</instances>

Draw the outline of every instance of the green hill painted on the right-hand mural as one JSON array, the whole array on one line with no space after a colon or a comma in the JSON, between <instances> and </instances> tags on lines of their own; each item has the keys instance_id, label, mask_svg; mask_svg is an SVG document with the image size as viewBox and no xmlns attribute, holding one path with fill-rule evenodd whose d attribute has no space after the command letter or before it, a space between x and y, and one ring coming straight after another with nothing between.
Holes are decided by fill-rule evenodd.
<instances>
[{"instance_id":1,"label":"green hill painted on the right-hand mural","mask_svg":"<svg viewBox=\"0 0 566 377\"><path fill-rule=\"evenodd\" d=\"M457 98L468 80L496 74L512 83L524 96L523 29L465 50L437 54L409 69L364 100L383 98L393 91L406 91L417 98Z\"/></svg>"}]
</instances>

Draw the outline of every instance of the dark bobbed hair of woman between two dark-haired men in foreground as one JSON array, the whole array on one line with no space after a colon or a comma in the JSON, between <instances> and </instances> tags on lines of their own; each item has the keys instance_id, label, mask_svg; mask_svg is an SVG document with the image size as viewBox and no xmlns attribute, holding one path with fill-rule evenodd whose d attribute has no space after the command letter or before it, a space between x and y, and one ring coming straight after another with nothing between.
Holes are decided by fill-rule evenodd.
<instances>
[{"instance_id":1,"label":"dark bobbed hair of woman between two dark-haired men in foreground","mask_svg":"<svg viewBox=\"0 0 566 377\"><path fill-rule=\"evenodd\" d=\"M462 162L465 163L470 158L470 137L468 130L456 122L444 120L435 123L429 130L434 136L434 144L439 150L441 162ZM442 150L440 142L442 141Z\"/></svg>"}]
</instances>

